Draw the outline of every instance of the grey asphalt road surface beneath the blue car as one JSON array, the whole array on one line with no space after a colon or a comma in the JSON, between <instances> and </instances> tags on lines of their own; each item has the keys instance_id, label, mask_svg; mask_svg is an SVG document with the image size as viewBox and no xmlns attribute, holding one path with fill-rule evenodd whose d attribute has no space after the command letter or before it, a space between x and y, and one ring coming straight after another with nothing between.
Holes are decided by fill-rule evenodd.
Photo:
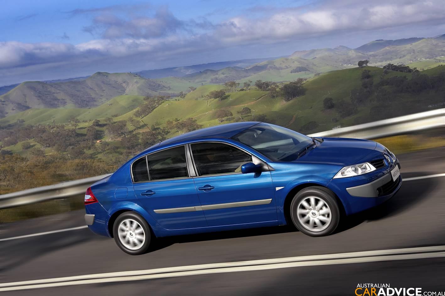
<instances>
[{"instance_id":1,"label":"grey asphalt road surface beneath the blue car","mask_svg":"<svg viewBox=\"0 0 445 296\"><path fill-rule=\"evenodd\" d=\"M445 172L445 151L400 155L404 178ZM83 225L83 211L0 224L2 238ZM142 256L88 229L0 241L0 283L195 264L445 245L445 177L406 181L327 237L289 227L159 239ZM4 295L354 295L359 283L445 292L445 257L297 266L0 292ZM1 287L0 287L1 291Z\"/></svg>"}]
</instances>

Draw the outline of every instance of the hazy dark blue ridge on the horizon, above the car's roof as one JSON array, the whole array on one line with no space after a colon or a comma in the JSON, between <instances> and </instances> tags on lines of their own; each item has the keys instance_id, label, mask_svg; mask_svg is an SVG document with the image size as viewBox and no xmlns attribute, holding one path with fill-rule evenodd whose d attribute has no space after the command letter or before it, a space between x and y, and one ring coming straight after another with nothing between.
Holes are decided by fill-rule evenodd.
<instances>
[{"instance_id":1,"label":"hazy dark blue ridge on the horizon, above the car's roof","mask_svg":"<svg viewBox=\"0 0 445 296\"><path fill-rule=\"evenodd\" d=\"M204 70L221 70L228 67L241 67L245 68L252 64L261 63L265 60L275 60L278 57L272 58L259 58L259 59L247 59L247 60L231 60L225 62L216 62L208 64L197 64L191 66L172 67L164 69L153 69L135 72L136 74L145 78L162 78L168 76L183 77L192 73L204 71Z\"/></svg>"}]
</instances>

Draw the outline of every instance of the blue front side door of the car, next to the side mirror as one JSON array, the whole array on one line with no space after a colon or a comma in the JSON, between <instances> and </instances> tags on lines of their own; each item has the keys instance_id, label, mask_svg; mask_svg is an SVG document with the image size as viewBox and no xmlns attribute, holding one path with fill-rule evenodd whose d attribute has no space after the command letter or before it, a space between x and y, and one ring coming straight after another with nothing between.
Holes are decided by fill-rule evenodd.
<instances>
[{"instance_id":1,"label":"blue front side door of the car, next to the side mirror","mask_svg":"<svg viewBox=\"0 0 445 296\"><path fill-rule=\"evenodd\" d=\"M195 186L208 226L276 221L271 173L241 173L251 154L226 143L190 144Z\"/></svg>"}]
</instances>

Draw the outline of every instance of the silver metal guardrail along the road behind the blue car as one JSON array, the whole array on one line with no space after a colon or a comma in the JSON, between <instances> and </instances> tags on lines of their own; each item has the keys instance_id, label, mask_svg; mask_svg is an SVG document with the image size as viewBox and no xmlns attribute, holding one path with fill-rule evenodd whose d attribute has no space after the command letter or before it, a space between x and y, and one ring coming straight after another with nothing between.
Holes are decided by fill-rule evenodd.
<instances>
[{"instance_id":1,"label":"silver metal guardrail along the road behind the blue car","mask_svg":"<svg viewBox=\"0 0 445 296\"><path fill-rule=\"evenodd\" d=\"M359 124L347 128L337 128L308 136L375 139L442 127L445 127L445 108L374 121L367 124ZM85 193L91 184L109 175L110 174L68 181L0 195L0 209L82 194Z\"/></svg>"}]
</instances>

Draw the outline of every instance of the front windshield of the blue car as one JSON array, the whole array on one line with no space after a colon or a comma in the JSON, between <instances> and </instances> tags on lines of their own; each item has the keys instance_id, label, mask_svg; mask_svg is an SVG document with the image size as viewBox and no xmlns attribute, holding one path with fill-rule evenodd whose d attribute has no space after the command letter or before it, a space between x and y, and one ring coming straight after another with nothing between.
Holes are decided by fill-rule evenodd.
<instances>
[{"instance_id":1,"label":"front windshield of the blue car","mask_svg":"<svg viewBox=\"0 0 445 296\"><path fill-rule=\"evenodd\" d=\"M232 140L243 143L272 161L292 161L314 144L311 137L273 124L255 124L236 134Z\"/></svg>"}]
</instances>

